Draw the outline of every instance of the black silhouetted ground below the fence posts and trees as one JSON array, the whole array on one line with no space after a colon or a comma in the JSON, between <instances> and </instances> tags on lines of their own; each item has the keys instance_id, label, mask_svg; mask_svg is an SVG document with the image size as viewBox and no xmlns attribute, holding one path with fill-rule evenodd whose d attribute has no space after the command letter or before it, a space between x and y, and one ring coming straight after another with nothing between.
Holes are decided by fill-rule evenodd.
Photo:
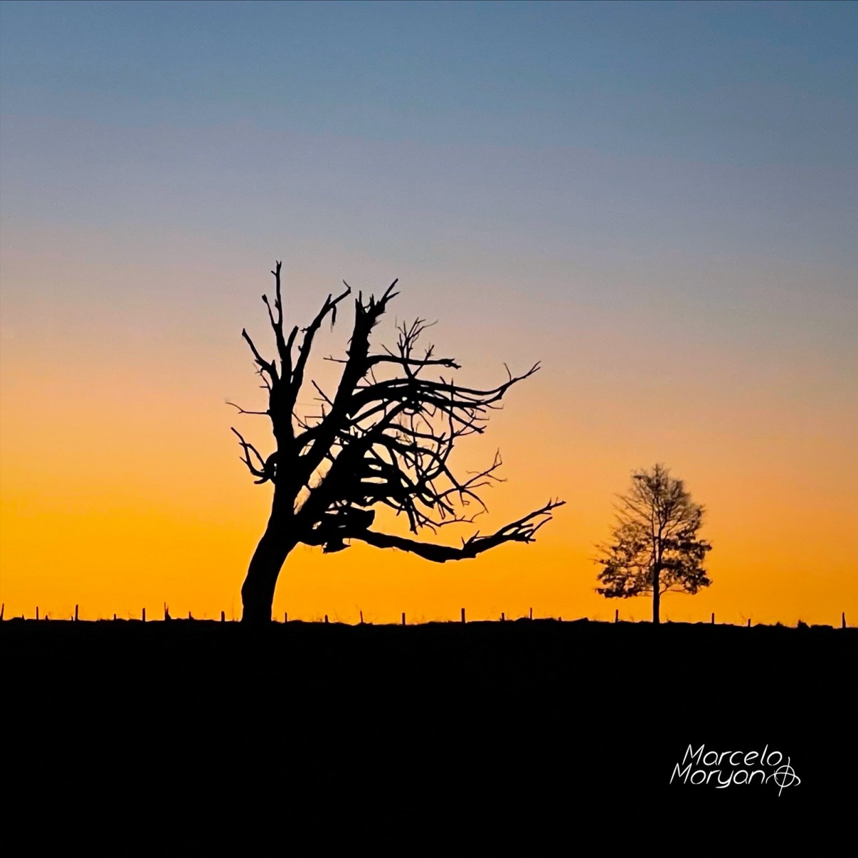
<instances>
[{"instance_id":1,"label":"black silhouetted ground below the fence posts and trees","mask_svg":"<svg viewBox=\"0 0 858 858\"><path fill-rule=\"evenodd\" d=\"M354 812L419 841L855 802L858 629L7 620L0 654L3 781L50 819ZM689 744L768 745L801 785L671 785Z\"/></svg>"}]
</instances>

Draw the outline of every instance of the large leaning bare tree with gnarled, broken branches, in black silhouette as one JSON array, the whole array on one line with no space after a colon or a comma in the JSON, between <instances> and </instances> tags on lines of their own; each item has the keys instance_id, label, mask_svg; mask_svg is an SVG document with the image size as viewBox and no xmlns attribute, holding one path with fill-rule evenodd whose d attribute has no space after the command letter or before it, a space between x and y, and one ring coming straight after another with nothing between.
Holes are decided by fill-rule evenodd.
<instances>
[{"instance_id":1,"label":"large leaning bare tree with gnarled, broken branches, in black silhouette","mask_svg":"<svg viewBox=\"0 0 858 858\"><path fill-rule=\"evenodd\" d=\"M398 330L396 348L379 353L370 349L370 335L388 303L396 298L390 284L380 299L354 302L354 323L346 357L329 358L342 365L335 392L326 394L311 381L320 402L320 414L299 417L295 407L305 387L307 360L313 338L327 317L333 327L337 308L351 293L345 291L325 299L310 325L284 328L281 297L281 263L276 263L275 297L263 295L269 323L274 331L277 356L266 360L246 330L242 336L251 348L257 372L268 391L268 408L275 451L262 456L257 448L239 437L242 461L257 483L271 482L274 496L268 526L251 559L241 589L245 622L271 619L275 584L281 567L294 547L303 543L321 546L332 553L360 540L379 548L399 548L420 557L444 563L473 558L505 542L534 541L536 531L551 518L562 501L551 501L492 534L478 531L460 547L418 541L372 529L376 512L383 505L408 520L412 533L435 532L444 524L469 522L458 510L470 502L485 510L478 490L492 480L501 464L460 479L448 464L459 438L483 432L486 412L497 408L513 384L529 378L539 365L521 376L508 378L491 390L462 387L444 378L426 378L427 368L459 369L455 360L435 358L432 347L416 353L422 319ZM232 403L230 403L232 404ZM238 408L238 406L234 406Z\"/></svg>"}]
</instances>

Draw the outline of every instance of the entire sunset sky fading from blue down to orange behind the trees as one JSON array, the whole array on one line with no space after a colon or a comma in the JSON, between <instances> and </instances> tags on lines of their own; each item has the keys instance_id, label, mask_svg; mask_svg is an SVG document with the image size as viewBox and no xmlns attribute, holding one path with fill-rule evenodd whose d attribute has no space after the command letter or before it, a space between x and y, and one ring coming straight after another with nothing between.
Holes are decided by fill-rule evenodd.
<instances>
[{"instance_id":1,"label":"entire sunset sky fading from blue down to orange behind the trees","mask_svg":"<svg viewBox=\"0 0 858 858\"><path fill-rule=\"evenodd\" d=\"M646 619L594 545L665 462L714 583L663 616L858 619L856 34L855 3L0 3L6 616L239 616L269 486L229 427L271 448L224 403L261 403L281 258L295 323L399 277L379 341L438 319L476 384L541 360L458 461L504 455L480 527L568 503L459 564L300 548L277 614Z\"/></svg>"}]
</instances>

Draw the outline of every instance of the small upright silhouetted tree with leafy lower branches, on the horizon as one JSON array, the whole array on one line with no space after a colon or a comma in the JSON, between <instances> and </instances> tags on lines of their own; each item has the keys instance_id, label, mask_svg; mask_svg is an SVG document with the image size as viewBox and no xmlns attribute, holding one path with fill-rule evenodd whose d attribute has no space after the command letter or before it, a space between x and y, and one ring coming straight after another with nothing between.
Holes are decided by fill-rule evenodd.
<instances>
[{"instance_id":1,"label":"small upright silhouetted tree with leafy lower branches, on the horizon","mask_svg":"<svg viewBox=\"0 0 858 858\"><path fill-rule=\"evenodd\" d=\"M668 590L696 593L710 579L701 565L711 550L698 538L704 508L693 503L682 480L663 465L632 474L631 490L619 495L612 542L601 545L604 568L596 592L608 598L652 594L652 621L659 622Z\"/></svg>"}]
</instances>

